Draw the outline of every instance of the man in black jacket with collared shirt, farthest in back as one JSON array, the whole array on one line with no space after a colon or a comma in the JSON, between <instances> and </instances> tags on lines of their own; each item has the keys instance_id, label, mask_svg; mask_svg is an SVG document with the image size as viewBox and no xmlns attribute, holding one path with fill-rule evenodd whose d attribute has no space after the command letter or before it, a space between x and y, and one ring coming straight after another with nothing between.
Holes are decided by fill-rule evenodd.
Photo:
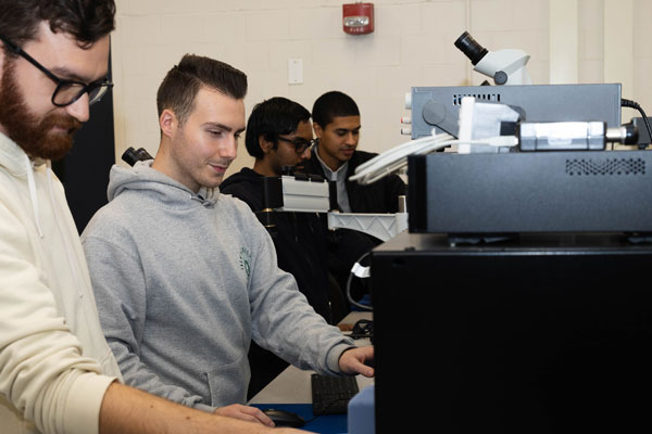
<instances>
[{"instance_id":1,"label":"man in black jacket with collared shirt, farthest in back","mask_svg":"<svg viewBox=\"0 0 652 434\"><path fill-rule=\"evenodd\" d=\"M397 175L361 186L350 181L361 164L377 154L358 151L360 139L360 111L355 101L346 93L330 91L321 95L313 105L313 128L317 144L313 146L305 171L322 175L337 186L338 208L342 213L397 213L399 196L405 194L405 183ZM330 237L329 266L341 288L346 288L351 267L380 240L347 229L339 229ZM359 298L363 290L353 290ZM356 293L356 294L355 294Z\"/></svg>"}]
</instances>

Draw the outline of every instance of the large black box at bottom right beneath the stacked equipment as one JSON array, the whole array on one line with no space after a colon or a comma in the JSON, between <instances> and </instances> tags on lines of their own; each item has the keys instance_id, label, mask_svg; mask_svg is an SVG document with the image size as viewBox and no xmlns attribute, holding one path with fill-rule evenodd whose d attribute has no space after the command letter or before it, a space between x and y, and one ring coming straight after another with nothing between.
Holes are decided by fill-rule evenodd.
<instances>
[{"instance_id":1,"label":"large black box at bottom right beneath the stacked equipment","mask_svg":"<svg viewBox=\"0 0 652 434\"><path fill-rule=\"evenodd\" d=\"M378 246L376 433L650 429L650 264L617 235Z\"/></svg>"}]
</instances>

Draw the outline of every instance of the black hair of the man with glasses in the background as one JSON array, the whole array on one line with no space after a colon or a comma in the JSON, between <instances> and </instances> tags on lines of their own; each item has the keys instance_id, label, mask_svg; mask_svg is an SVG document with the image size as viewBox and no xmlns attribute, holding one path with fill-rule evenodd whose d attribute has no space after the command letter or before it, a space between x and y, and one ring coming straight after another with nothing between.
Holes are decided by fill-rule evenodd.
<instances>
[{"instance_id":1,"label":"black hair of the man with glasses in the background","mask_svg":"<svg viewBox=\"0 0 652 434\"><path fill-rule=\"evenodd\" d=\"M309 119L308 108L287 98L275 97L256 104L247 122L247 152L255 158L263 158L265 154L259 144L261 136L278 146L278 136L291 135L297 131L301 122Z\"/></svg>"}]
</instances>

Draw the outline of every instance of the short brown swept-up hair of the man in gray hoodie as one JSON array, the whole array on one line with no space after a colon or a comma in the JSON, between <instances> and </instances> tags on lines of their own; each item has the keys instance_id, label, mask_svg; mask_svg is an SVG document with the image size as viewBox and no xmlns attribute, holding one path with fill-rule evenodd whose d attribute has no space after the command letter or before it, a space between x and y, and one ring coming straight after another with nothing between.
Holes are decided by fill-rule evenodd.
<instances>
[{"instance_id":1,"label":"short brown swept-up hair of the man in gray hoodie","mask_svg":"<svg viewBox=\"0 0 652 434\"><path fill-rule=\"evenodd\" d=\"M172 108L184 123L192 113L195 97L205 86L235 100L247 94L247 76L224 62L201 55L186 54L178 65L167 72L156 92L159 116Z\"/></svg>"}]
</instances>

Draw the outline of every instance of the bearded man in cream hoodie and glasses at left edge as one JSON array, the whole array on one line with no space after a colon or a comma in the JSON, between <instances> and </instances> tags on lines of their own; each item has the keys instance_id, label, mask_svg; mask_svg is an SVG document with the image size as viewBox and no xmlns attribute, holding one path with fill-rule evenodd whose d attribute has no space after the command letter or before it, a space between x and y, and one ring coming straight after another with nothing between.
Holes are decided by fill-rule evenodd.
<instances>
[{"instance_id":1,"label":"bearded man in cream hoodie and glasses at left edge","mask_svg":"<svg viewBox=\"0 0 652 434\"><path fill-rule=\"evenodd\" d=\"M103 339L49 161L112 86L114 14L113 0L0 0L0 431L266 432L121 384Z\"/></svg>"}]
</instances>

